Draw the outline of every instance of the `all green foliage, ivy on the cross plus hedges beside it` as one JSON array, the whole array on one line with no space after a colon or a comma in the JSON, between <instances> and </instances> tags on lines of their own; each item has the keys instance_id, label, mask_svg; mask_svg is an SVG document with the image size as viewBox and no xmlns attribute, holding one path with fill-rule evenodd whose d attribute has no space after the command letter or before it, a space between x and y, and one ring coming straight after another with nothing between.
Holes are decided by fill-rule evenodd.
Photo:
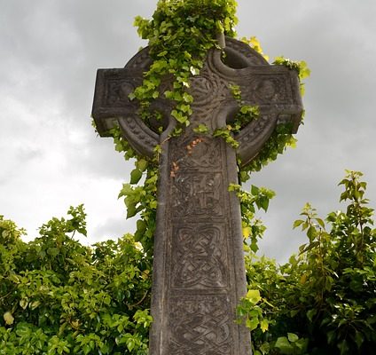
<instances>
[{"instance_id":1,"label":"all green foliage, ivy on the cross plus hedges beside it","mask_svg":"<svg viewBox=\"0 0 376 355\"><path fill-rule=\"evenodd\" d=\"M188 89L200 75L208 50L217 48L218 34L234 37L236 2L224 0L160 0L151 20L137 17L139 35L148 41L153 64L129 99L141 103L139 114L150 124L160 120L153 100L164 95L173 102L176 120L172 135L190 125L192 95ZM255 37L243 38L255 51ZM273 61L309 75L304 61L279 57ZM172 86L161 92L168 75ZM232 135L258 117L258 107L244 104L235 85L231 92L239 112L221 130L208 132L236 149ZM153 128L155 129L155 128ZM127 217L138 216L137 230L118 241L82 246L75 234L86 235L82 206L66 218L52 218L35 241L21 240L25 231L0 217L0 354L137 354L147 353L153 232L157 209L158 147L153 160L137 156L118 128L111 131L115 149L134 159L129 183L119 194ZM240 168L239 184L250 174L294 146L290 128L277 127L262 151ZM192 146L197 144L193 141ZM174 171L171 171L173 174ZM373 210L365 198L362 174L348 171L341 180L343 211L325 219L307 205L294 222L306 242L297 255L278 265L257 256L265 227L257 210L266 211L274 193L252 186L230 185L241 203L246 249L248 292L238 308L238 321L252 332L255 355L372 353L376 324L376 258Z\"/></svg>"}]
</instances>

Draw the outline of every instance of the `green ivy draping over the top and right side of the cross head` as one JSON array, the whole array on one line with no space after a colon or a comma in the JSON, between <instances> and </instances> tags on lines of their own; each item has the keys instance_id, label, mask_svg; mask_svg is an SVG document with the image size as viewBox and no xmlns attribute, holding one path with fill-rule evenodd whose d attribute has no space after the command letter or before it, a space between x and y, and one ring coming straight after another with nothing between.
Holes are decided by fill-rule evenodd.
<instances>
[{"instance_id":1,"label":"green ivy draping over the top and right side of the cross head","mask_svg":"<svg viewBox=\"0 0 376 355\"><path fill-rule=\"evenodd\" d=\"M236 1L232 0L160 0L151 20L136 18L137 32L139 36L148 40L153 64L145 72L144 83L130 94L129 98L140 101L140 116L146 123L152 117L161 115L151 107L153 101L162 95L174 103L171 116L176 120L176 129L172 135L180 134L190 124L193 101L192 95L187 92L190 78L200 75L208 50L218 47L218 34L223 33L231 37L236 35L236 6ZM242 41L268 59L255 36L249 39L242 38ZM309 75L309 69L303 61L294 62L281 57L276 59L275 64L297 70L300 80ZM159 87L165 77L172 79L172 88L160 92ZM303 89L302 83L301 87ZM239 132L248 122L257 119L259 113L257 107L244 104L239 90L231 90L239 102L238 114L226 127L215 130L214 136L223 138L237 149L239 143L233 138L233 134ZM162 130L161 126L158 131ZM252 171L260 170L262 166L277 159L278 154L283 153L287 146L294 146L295 139L289 134L290 131L291 127L278 127L254 161L247 167L239 168L240 181L247 181Z\"/></svg>"}]
</instances>

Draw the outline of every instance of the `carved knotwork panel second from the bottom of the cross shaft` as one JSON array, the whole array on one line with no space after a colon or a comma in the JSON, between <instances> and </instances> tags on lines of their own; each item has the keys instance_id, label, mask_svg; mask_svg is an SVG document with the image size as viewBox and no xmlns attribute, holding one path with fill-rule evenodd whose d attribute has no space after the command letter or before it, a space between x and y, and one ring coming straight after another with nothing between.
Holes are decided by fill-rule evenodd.
<instances>
[{"instance_id":1,"label":"carved knotwork panel second from the bottom of the cross shaft","mask_svg":"<svg viewBox=\"0 0 376 355\"><path fill-rule=\"evenodd\" d=\"M224 225L195 224L176 228L172 250L172 288L228 287Z\"/></svg>"}]
</instances>

